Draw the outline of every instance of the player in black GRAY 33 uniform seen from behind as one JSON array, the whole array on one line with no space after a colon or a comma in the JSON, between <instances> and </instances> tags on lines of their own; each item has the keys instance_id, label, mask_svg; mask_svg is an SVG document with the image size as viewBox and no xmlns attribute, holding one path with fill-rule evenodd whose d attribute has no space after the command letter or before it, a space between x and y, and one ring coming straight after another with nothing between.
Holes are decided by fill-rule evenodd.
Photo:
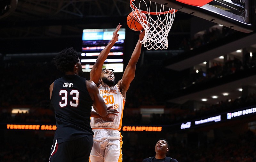
<instances>
[{"instance_id":1,"label":"player in black GRAY 33 uniform seen from behind","mask_svg":"<svg viewBox=\"0 0 256 162\"><path fill-rule=\"evenodd\" d=\"M107 106L93 81L80 77L82 65L76 50L66 48L54 58L55 66L65 75L50 85L57 130L49 162L89 160L93 144L90 126L92 105L95 116L108 118Z\"/></svg>"}]
</instances>

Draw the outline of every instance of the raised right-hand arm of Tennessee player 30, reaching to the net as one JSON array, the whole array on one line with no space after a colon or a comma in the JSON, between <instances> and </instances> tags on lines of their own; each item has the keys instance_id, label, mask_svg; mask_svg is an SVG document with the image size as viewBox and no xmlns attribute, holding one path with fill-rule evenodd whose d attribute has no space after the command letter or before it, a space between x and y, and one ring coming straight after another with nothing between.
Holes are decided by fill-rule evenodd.
<instances>
[{"instance_id":1,"label":"raised right-hand arm of Tennessee player 30, reaching to the net","mask_svg":"<svg viewBox=\"0 0 256 162\"><path fill-rule=\"evenodd\" d=\"M145 31L143 32L140 31L139 40L134 48L131 59L129 60L124 70L122 79L117 83L124 97L126 96L126 91L130 87L130 84L135 77L136 64L140 58L140 52L141 52L141 46L142 46L140 41L144 38L144 36L145 36Z\"/></svg>"}]
</instances>

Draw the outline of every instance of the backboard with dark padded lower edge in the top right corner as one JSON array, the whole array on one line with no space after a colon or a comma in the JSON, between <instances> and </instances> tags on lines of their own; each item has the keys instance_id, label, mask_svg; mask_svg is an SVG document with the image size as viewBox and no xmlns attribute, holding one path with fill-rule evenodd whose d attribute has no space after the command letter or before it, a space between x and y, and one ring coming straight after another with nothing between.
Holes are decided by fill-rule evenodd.
<instances>
[{"instance_id":1,"label":"backboard with dark padded lower edge in the top right corner","mask_svg":"<svg viewBox=\"0 0 256 162\"><path fill-rule=\"evenodd\" d=\"M213 0L203 6L188 5L177 0L151 1L240 32L255 30L254 0Z\"/></svg>"}]
</instances>

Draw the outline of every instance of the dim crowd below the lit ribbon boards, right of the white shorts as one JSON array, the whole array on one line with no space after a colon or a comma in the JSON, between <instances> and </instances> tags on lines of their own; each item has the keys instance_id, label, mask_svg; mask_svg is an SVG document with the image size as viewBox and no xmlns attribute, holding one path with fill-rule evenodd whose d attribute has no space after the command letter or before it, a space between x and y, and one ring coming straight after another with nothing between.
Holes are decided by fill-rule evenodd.
<instances>
[{"instance_id":1,"label":"dim crowd below the lit ribbon boards, right of the white shorts","mask_svg":"<svg viewBox=\"0 0 256 162\"><path fill-rule=\"evenodd\" d=\"M205 143L188 143L175 137L167 139L170 150L167 156L179 162L254 162L256 161L256 139L251 130L241 132L236 137L222 137ZM142 140L142 139L139 139ZM197 141L198 142L198 141ZM151 143L124 143L124 161L141 162L143 158L155 155ZM127 147L128 146L128 147Z\"/></svg>"}]
</instances>

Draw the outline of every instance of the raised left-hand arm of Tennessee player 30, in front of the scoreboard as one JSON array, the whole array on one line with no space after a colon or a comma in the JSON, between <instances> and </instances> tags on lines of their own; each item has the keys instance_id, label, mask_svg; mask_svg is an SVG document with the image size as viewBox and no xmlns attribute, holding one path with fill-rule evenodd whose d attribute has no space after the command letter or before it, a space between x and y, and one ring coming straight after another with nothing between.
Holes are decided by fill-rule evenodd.
<instances>
[{"instance_id":1,"label":"raised left-hand arm of Tennessee player 30, in front of the scoreboard","mask_svg":"<svg viewBox=\"0 0 256 162\"><path fill-rule=\"evenodd\" d=\"M110 52L111 48L114 46L116 41L118 40L119 34L117 33L122 25L118 24L116 26L116 31L113 32L113 37L109 41L108 45L100 52L100 55L98 56L96 62L94 63L92 70L90 72L90 80L93 81L97 86L100 84L100 74L102 72L102 66L105 62L105 60L108 57L108 53Z\"/></svg>"}]
</instances>

